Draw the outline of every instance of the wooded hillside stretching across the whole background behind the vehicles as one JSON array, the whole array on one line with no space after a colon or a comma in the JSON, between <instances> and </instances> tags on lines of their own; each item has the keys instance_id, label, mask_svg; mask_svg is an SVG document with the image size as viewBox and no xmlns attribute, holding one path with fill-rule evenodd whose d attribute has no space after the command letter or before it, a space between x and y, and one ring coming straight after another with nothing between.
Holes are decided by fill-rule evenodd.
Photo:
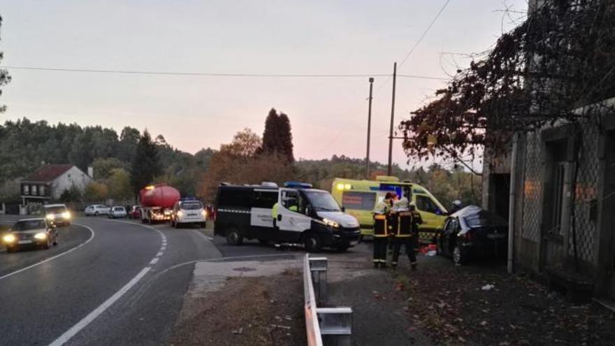
<instances>
[{"instance_id":1,"label":"wooded hillside stretching across the whole background behind the vehicles","mask_svg":"<svg viewBox=\"0 0 615 346\"><path fill-rule=\"evenodd\" d=\"M147 130L80 127L78 124L31 122L27 118L0 126L0 199L18 199L17 180L43 163L75 164L83 171L94 168L94 182L80 195L68 191L66 201L131 201L150 182L166 182L182 196L213 201L220 182L282 184L287 180L310 182L331 189L334 178L364 179L365 160L344 155L331 159L295 160L291 124L284 113L271 109L263 135L251 129L239 131L230 143L195 154L182 152L164 136ZM370 178L386 175L386 165L370 162ZM461 167L442 166L402 169L393 164L393 175L424 185L448 206L461 199L480 201L480 180Z\"/></svg>"}]
</instances>

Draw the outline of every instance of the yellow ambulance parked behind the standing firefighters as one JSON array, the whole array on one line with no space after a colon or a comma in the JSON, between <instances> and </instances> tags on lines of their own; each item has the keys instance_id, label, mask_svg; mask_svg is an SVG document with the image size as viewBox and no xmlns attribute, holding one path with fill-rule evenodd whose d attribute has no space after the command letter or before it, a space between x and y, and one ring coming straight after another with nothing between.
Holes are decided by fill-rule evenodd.
<instances>
[{"instance_id":1,"label":"yellow ambulance parked behind the standing firefighters","mask_svg":"<svg viewBox=\"0 0 615 346\"><path fill-rule=\"evenodd\" d=\"M374 233L373 211L377 203L384 199L387 192L396 193L414 202L421 213L423 224L419 226L421 243L433 243L435 231L442 229L448 214L442 203L424 187L413 182L400 182L398 178L380 175L376 180L352 180L335 178L331 187L333 199L345 212L356 217L361 224L361 235Z\"/></svg>"}]
</instances>

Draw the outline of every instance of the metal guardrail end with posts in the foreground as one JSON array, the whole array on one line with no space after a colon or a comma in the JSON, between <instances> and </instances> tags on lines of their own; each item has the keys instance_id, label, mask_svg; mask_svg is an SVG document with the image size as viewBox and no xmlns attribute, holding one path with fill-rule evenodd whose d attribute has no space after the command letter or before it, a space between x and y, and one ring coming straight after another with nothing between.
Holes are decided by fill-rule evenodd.
<instances>
[{"instance_id":1,"label":"metal guardrail end with posts in the foreground","mask_svg":"<svg viewBox=\"0 0 615 346\"><path fill-rule=\"evenodd\" d=\"M350 346L352 308L318 308L327 303L327 259L305 254L303 293L308 346Z\"/></svg>"}]
</instances>

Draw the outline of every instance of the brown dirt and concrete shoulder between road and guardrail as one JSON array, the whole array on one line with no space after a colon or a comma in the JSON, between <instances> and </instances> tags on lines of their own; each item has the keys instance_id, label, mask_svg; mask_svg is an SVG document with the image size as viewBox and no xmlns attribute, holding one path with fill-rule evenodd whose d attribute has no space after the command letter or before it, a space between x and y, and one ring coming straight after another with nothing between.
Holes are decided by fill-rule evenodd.
<instances>
[{"instance_id":1,"label":"brown dirt and concrete shoulder between road and guardrail","mask_svg":"<svg viewBox=\"0 0 615 346\"><path fill-rule=\"evenodd\" d=\"M305 345L297 260L201 262L168 345Z\"/></svg>"}]
</instances>

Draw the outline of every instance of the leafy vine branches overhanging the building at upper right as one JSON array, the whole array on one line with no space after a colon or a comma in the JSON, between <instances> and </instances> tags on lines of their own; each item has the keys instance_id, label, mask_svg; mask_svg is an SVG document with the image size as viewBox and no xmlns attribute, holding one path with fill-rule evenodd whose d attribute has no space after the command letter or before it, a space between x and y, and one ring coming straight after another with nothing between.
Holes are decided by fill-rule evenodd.
<instances>
[{"instance_id":1,"label":"leafy vine branches overhanging the building at upper right","mask_svg":"<svg viewBox=\"0 0 615 346\"><path fill-rule=\"evenodd\" d=\"M409 157L504 152L514 131L612 112L615 3L544 1L435 95L399 125Z\"/></svg>"}]
</instances>

